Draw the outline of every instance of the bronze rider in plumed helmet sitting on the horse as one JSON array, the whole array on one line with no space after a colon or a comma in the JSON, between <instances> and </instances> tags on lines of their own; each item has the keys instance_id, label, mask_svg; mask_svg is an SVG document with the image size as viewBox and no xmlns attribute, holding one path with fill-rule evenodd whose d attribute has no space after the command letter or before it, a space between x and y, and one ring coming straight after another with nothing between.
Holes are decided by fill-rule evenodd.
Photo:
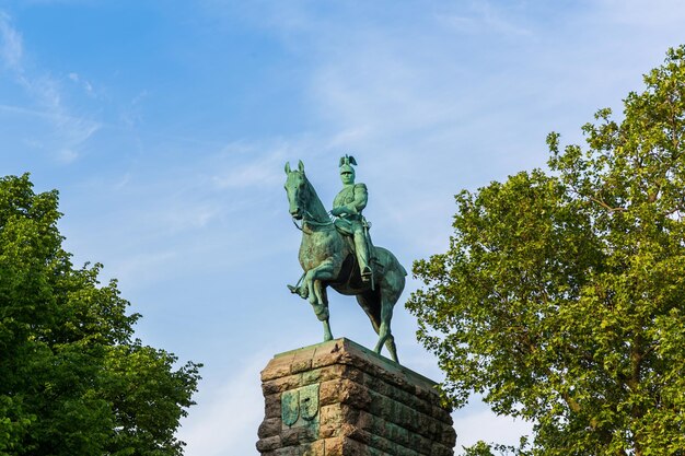
<instances>
[{"instance_id":1,"label":"bronze rider in plumed helmet sitting on the horse","mask_svg":"<svg viewBox=\"0 0 685 456\"><path fill-rule=\"evenodd\" d=\"M352 165L357 165L353 156L345 155L340 159L342 189L333 200L330 214L338 218L336 226L353 237L361 279L370 281L373 272L369 266L369 244L367 242L369 225L361 214L361 211L367 207L369 194L364 184L355 184Z\"/></svg>"}]
</instances>

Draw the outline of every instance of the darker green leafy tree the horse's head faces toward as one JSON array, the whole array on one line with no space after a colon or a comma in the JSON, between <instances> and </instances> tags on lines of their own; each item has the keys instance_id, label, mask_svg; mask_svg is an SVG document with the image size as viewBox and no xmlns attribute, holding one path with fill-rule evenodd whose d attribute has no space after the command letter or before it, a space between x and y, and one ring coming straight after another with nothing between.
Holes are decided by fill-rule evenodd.
<instances>
[{"instance_id":1,"label":"darker green leafy tree the horse's head faces toward","mask_svg":"<svg viewBox=\"0 0 685 456\"><path fill-rule=\"evenodd\" d=\"M57 202L0 178L0 455L181 455L200 364L133 339L116 281L62 249Z\"/></svg>"}]
</instances>

